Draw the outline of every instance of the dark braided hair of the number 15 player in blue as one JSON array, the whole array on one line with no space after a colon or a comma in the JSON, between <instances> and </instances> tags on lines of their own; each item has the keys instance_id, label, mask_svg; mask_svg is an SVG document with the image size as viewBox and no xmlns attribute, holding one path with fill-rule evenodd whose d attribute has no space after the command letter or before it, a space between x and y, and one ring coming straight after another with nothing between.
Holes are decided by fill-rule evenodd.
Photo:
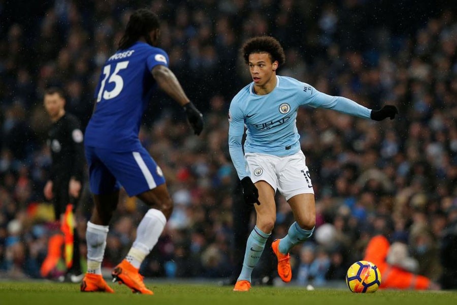
<instances>
[{"instance_id":1,"label":"dark braided hair of the number 15 player in blue","mask_svg":"<svg viewBox=\"0 0 457 305\"><path fill-rule=\"evenodd\" d=\"M142 36L148 44L152 45L149 33L159 26L159 19L152 11L147 9L136 10L128 19L124 36L119 41L119 49L129 48Z\"/></svg>"}]
</instances>

